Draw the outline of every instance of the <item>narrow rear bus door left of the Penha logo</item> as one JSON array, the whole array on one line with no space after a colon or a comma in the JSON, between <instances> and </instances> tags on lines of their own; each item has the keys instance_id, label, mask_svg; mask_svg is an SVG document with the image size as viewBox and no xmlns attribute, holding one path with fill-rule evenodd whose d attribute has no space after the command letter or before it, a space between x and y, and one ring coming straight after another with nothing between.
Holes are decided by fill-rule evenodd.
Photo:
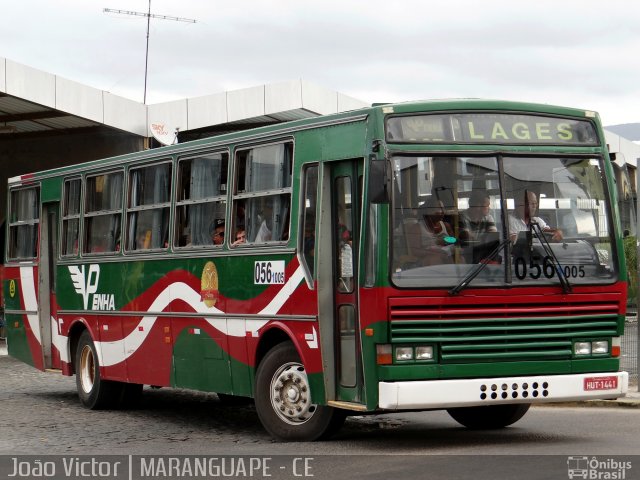
<instances>
[{"instance_id":1,"label":"narrow rear bus door left of the Penha logo","mask_svg":"<svg viewBox=\"0 0 640 480\"><path fill-rule=\"evenodd\" d=\"M51 317L56 314L56 259L58 251L58 203L42 205L38 264L38 323L44 368L59 368L60 355L53 351ZM55 334L58 332L56 331Z\"/></svg>"}]
</instances>

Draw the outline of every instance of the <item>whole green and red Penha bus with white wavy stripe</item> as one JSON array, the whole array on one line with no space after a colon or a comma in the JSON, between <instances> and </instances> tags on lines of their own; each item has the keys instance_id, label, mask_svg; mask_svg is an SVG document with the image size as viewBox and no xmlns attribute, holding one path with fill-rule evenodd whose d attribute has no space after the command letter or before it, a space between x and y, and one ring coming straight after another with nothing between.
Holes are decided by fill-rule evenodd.
<instances>
[{"instance_id":1,"label":"whole green and red Penha bus with white wavy stripe","mask_svg":"<svg viewBox=\"0 0 640 480\"><path fill-rule=\"evenodd\" d=\"M7 215L9 354L75 374L88 408L196 389L314 440L347 415L500 428L628 388L591 111L374 105L25 174Z\"/></svg>"}]
</instances>

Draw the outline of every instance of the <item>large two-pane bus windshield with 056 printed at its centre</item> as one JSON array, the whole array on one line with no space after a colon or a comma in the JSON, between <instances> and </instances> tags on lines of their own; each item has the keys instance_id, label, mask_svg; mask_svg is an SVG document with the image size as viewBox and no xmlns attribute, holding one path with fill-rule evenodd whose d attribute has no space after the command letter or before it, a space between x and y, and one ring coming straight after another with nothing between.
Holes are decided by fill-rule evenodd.
<instances>
[{"instance_id":1,"label":"large two-pane bus windshield with 056 printed at its centre","mask_svg":"<svg viewBox=\"0 0 640 480\"><path fill-rule=\"evenodd\" d=\"M395 155L398 287L587 285L615 278L601 158ZM477 268L484 264L482 268Z\"/></svg>"}]
</instances>

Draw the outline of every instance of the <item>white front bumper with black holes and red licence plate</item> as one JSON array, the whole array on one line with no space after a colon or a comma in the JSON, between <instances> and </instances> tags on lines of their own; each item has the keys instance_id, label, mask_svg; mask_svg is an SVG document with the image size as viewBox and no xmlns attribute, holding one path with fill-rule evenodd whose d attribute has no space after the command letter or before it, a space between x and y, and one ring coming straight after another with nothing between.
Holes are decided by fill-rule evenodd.
<instances>
[{"instance_id":1,"label":"white front bumper with black holes and red licence plate","mask_svg":"<svg viewBox=\"0 0 640 480\"><path fill-rule=\"evenodd\" d=\"M627 372L380 382L378 407L424 410L614 399L625 396L628 388Z\"/></svg>"}]
</instances>

